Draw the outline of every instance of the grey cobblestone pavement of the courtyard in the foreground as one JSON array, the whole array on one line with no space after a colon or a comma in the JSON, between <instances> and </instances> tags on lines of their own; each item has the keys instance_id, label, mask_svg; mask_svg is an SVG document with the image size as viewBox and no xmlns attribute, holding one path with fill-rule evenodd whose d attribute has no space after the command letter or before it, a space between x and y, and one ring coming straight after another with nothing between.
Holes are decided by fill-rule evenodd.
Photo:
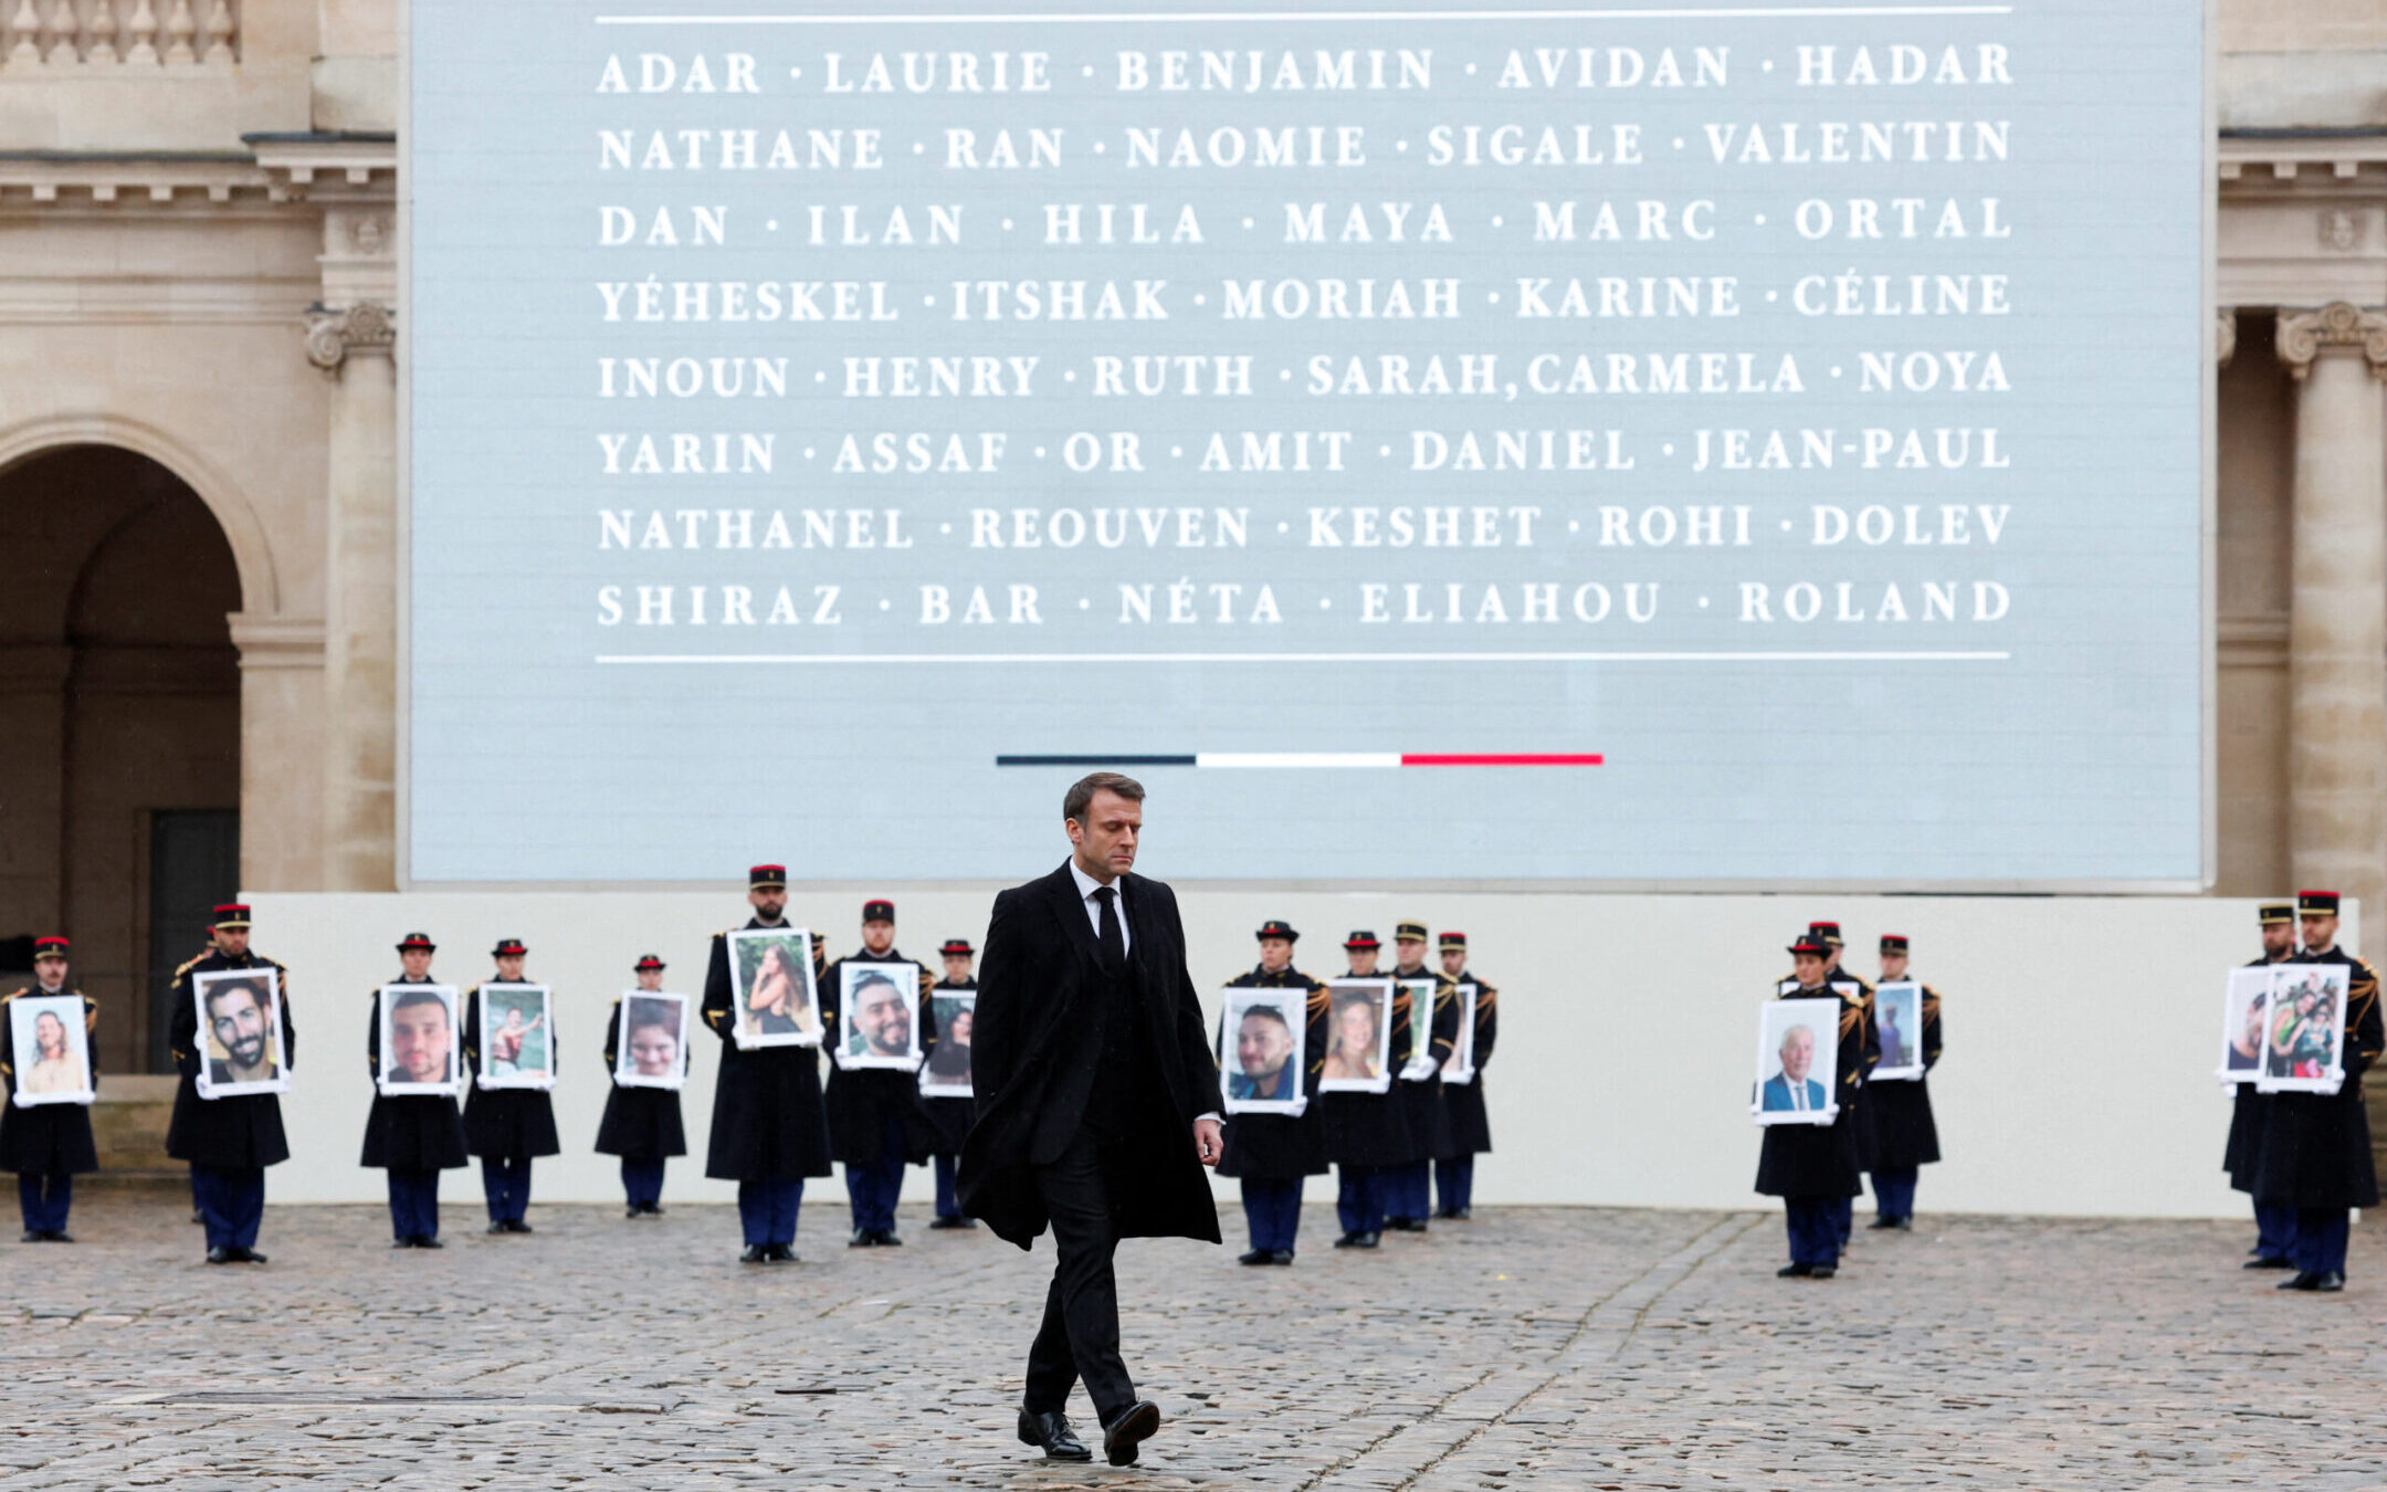
<instances>
[{"instance_id":1,"label":"grey cobblestone pavement of the courtyard in the foreground","mask_svg":"<svg viewBox=\"0 0 2387 1492\"><path fill-rule=\"evenodd\" d=\"M1291 1270L1122 1249L1170 1423L1112 1471L1012 1439L1048 1253L917 1215L847 1251L828 1191L781 1268L733 1260L726 1208L532 1208L528 1239L451 1208L442 1253L275 1208L270 1265L208 1268L167 1201L86 1198L81 1244L0 1246L0 1490L2387 1485L2370 1227L2346 1294L2282 1296L2244 1225L1924 1217L1785 1282L1778 1213L1337 1253L1310 1208Z\"/></svg>"}]
</instances>

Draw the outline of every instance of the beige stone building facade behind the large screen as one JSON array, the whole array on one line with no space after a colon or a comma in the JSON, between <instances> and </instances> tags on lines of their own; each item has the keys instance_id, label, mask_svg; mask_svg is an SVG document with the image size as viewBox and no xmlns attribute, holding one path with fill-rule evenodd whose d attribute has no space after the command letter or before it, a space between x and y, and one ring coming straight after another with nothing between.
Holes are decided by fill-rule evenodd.
<instances>
[{"instance_id":1,"label":"beige stone building facade behind the large screen","mask_svg":"<svg viewBox=\"0 0 2387 1492\"><path fill-rule=\"evenodd\" d=\"M0 0L0 964L67 929L115 1072L234 878L394 883L396 26ZM2387 7L2220 50L2215 893L2382 907Z\"/></svg>"}]
</instances>

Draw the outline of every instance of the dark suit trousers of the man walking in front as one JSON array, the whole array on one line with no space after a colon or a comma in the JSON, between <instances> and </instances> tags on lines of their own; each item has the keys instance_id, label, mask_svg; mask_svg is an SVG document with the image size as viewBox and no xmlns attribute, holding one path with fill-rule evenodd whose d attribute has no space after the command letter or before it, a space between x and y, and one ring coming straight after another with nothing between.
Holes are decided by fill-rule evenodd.
<instances>
[{"instance_id":1,"label":"dark suit trousers of the man walking in front","mask_svg":"<svg viewBox=\"0 0 2387 1492\"><path fill-rule=\"evenodd\" d=\"M1120 1284L1110 1272L1120 1237L1096 1141L1081 1129L1053 1165L1036 1167L1036 1189L1053 1217L1060 1260L1029 1346L1026 1408L1057 1413L1069 1401L1069 1385L1084 1380L1108 1425L1136 1401L1136 1387L1120 1361Z\"/></svg>"}]
</instances>

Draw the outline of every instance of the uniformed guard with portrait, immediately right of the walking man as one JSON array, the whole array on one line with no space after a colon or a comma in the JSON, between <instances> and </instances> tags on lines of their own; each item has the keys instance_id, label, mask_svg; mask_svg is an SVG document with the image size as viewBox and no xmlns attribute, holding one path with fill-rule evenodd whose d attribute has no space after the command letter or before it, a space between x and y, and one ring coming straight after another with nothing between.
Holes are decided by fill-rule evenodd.
<instances>
[{"instance_id":1,"label":"uniformed guard with portrait, immediately right of the walking man","mask_svg":"<svg viewBox=\"0 0 2387 1492\"><path fill-rule=\"evenodd\" d=\"M1318 1074L1327 1065L1327 986L1294 969L1294 943L1301 933L1284 919L1260 924L1260 964L1227 981L1227 988L1294 988L1306 993L1301 1036L1301 1112L1291 1115L1227 1115L1225 1153L1217 1175L1236 1177L1244 1186L1244 1222L1251 1229L1251 1253L1236 1263L1289 1265L1294 1263L1294 1237L1301 1232L1303 1177L1327 1175L1325 1110L1318 1108ZM1244 1024L1253 1043L1284 1041L1277 1022L1260 1010ZM1236 1050L1246 1036L1236 1034ZM1220 1041L1225 1048L1225 1041Z\"/></svg>"}]
</instances>

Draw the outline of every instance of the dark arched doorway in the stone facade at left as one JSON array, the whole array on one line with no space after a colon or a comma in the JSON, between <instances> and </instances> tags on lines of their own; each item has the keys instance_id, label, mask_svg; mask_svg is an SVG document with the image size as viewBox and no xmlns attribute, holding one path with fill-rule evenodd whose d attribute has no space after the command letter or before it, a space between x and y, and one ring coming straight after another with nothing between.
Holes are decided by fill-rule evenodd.
<instances>
[{"instance_id":1,"label":"dark arched doorway in the stone facade at left","mask_svg":"<svg viewBox=\"0 0 2387 1492\"><path fill-rule=\"evenodd\" d=\"M239 881L232 544L148 456L60 446L0 473L0 979L64 931L100 1069L162 1072L162 974Z\"/></svg>"}]
</instances>

